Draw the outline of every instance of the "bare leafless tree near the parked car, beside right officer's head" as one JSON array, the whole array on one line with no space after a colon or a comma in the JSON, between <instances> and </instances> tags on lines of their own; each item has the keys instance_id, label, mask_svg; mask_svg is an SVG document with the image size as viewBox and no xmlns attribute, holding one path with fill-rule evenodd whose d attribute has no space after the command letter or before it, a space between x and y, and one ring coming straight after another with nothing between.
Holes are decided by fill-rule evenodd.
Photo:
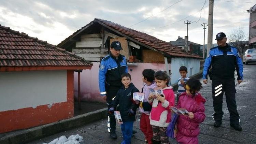
<instances>
[{"instance_id":1,"label":"bare leafless tree near the parked car, beside right officer's head","mask_svg":"<svg viewBox=\"0 0 256 144\"><path fill-rule=\"evenodd\" d=\"M236 48L238 48L240 53L244 51L245 43L248 43L248 34L244 31L244 28L238 27L234 28L233 31L228 36L228 41L230 44Z\"/></svg>"}]
</instances>

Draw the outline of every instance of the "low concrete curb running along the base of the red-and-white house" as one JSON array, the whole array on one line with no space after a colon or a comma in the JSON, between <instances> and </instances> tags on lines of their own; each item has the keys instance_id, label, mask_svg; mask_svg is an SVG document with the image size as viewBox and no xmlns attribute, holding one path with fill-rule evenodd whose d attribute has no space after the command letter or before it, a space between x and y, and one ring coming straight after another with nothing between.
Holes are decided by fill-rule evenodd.
<instances>
[{"instance_id":1,"label":"low concrete curb running along the base of the red-and-white house","mask_svg":"<svg viewBox=\"0 0 256 144\"><path fill-rule=\"evenodd\" d=\"M23 144L33 140L43 138L48 135L65 131L68 129L80 127L88 123L107 117L108 109L104 108L94 112L75 116L69 119L57 121L54 123L14 132L0 138L0 144Z\"/></svg>"}]
</instances>

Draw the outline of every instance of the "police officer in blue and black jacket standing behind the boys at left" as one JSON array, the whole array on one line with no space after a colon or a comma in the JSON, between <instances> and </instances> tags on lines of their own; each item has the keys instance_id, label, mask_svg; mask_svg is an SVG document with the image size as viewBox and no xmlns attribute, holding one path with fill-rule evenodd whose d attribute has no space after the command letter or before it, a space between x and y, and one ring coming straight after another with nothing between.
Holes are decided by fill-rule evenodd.
<instances>
[{"instance_id":1,"label":"police officer in blue and black jacket standing behind the boys at left","mask_svg":"<svg viewBox=\"0 0 256 144\"><path fill-rule=\"evenodd\" d=\"M125 56L120 55L121 43L114 41L110 45L110 54L105 56L100 62L99 88L101 98L106 100L108 109L112 99L122 86L121 75L128 72ZM110 137L116 139L116 120L114 114L108 114L108 131Z\"/></svg>"}]
</instances>

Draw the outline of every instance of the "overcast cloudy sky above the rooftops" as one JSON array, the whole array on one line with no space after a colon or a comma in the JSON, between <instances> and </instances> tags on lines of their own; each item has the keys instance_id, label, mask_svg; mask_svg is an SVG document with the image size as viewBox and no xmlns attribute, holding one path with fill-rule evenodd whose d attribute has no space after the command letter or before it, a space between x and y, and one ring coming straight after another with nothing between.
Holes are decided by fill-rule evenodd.
<instances>
[{"instance_id":1,"label":"overcast cloudy sky above the rooftops","mask_svg":"<svg viewBox=\"0 0 256 144\"><path fill-rule=\"evenodd\" d=\"M255 0L215 0L213 39L218 32L228 35L238 27L248 33L246 10L255 3ZM175 41L178 36L184 38L184 21L189 20L193 22L188 25L189 41L203 44L201 24L208 24L208 5L209 0L0 0L0 24L57 45L94 18L125 27L146 19L130 28L167 42Z\"/></svg>"}]
</instances>

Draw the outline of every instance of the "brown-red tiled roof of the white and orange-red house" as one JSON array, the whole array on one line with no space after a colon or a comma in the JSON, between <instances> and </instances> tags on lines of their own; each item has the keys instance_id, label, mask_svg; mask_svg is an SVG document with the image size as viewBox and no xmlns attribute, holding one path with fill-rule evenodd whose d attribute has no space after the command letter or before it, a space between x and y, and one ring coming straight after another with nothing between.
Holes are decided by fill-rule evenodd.
<instances>
[{"instance_id":1,"label":"brown-red tiled roof of the white and orange-red house","mask_svg":"<svg viewBox=\"0 0 256 144\"><path fill-rule=\"evenodd\" d=\"M0 25L1 67L92 66L92 63L25 33Z\"/></svg>"}]
</instances>

